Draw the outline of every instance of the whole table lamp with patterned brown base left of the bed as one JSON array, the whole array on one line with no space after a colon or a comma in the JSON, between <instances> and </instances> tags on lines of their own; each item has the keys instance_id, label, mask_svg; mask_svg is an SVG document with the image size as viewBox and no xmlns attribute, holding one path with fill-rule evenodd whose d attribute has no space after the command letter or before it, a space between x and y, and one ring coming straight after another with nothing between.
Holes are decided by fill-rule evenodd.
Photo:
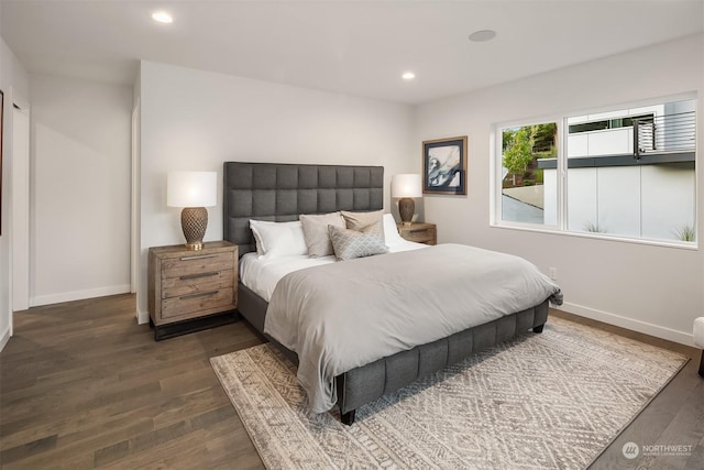
<instances>
[{"instance_id":1,"label":"whole table lamp with patterned brown base left of the bed","mask_svg":"<svg viewBox=\"0 0 704 470\"><path fill-rule=\"evenodd\" d=\"M183 207L180 227L188 250L202 249L208 228L208 209L218 204L217 172L169 172L166 181L166 205Z\"/></svg>"}]
</instances>

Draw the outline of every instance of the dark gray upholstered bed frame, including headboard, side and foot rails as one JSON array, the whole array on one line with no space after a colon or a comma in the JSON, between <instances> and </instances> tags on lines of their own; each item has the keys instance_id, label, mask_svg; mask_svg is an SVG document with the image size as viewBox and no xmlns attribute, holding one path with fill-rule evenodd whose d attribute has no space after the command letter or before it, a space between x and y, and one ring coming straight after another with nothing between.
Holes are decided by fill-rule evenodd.
<instances>
[{"instance_id":1,"label":"dark gray upholstered bed frame, including headboard, side and foot rails","mask_svg":"<svg viewBox=\"0 0 704 470\"><path fill-rule=\"evenodd\" d=\"M255 251L250 219L290 221L300 214L380 210L384 207L382 166L302 165L226 162L223 173L224 239L243 255ZM238 311L294 363L295 352L264 335L267 303L239 283ZM336 378L342 423L354 422L356 408L422 376L532 328L541 332L548 299L535 307L480 325L353 369Z\"/></svg>"}]
</instances>

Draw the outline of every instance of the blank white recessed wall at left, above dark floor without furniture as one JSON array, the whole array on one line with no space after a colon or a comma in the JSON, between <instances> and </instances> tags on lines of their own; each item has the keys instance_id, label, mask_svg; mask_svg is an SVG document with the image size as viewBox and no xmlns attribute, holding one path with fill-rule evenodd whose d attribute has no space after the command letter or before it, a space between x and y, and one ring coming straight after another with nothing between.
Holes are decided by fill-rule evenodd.
<instances>
[{"instance_id":1,"label":"blank white recessed wall at left, above dark floor without furniture","mask_svg":"<svg viewBox=\"0 0 704 470\"><path fill-rule=\"evenodd\" d=\"M130 291L132 87L31 75L30 305Z\"/></svg>"}]
</instances>

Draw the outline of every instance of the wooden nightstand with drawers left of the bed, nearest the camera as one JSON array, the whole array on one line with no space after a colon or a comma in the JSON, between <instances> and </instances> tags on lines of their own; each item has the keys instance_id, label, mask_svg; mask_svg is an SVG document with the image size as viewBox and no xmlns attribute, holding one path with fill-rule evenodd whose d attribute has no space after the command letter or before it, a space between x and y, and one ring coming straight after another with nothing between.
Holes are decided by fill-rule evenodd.
<instances>
[{"instance_id":1,"label":"wooden nightstand with drawers left of the bed, nearest the camera","mask_svg":"<svg viewBox=\"0 0 704 470\"><path fill-rule=\"evenodd\" d=\"M148 307L154 339L232 323L238 306L238 247L229 241L153 247L148 254ZM231 315L218 315L231 313Z\"/></svg>"}]
</instances>

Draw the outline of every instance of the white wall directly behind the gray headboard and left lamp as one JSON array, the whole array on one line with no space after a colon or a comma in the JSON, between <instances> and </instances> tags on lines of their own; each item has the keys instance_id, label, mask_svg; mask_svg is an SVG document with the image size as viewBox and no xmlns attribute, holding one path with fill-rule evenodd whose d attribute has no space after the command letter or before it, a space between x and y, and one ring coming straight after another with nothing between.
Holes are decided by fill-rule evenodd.
<instances>
[{"instance_id":1,"label":"white wall directly behind the gray headboard and left lamp","mask_svg":"<svg viewBox=\"0 0 704 470\"><path fill-rule=\"evenodd\" d=\"M166 174L217 171L218 206L205 240L222 239L222 163L383 165L386 209L392 175L414 170L408 106L226 76L152 62L141 64L140 321L146 321L150 247L183 243L179 209L166 207Z\"/></svg>"}]
</instances>

